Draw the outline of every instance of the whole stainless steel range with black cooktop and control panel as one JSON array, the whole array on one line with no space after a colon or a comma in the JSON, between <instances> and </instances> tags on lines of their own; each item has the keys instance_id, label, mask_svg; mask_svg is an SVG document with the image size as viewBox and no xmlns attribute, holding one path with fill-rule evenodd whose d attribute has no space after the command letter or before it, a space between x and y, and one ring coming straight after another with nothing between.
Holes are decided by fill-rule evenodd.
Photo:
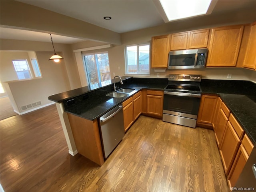
<instances>
[{"instance_id":1,"label":"whole stainless steel range with black cooktop and control panel","mask_svg":"<svg viewBox=\"0 0 256 192\"><path fill-rule=\"evenodd\" d=\"M164 88L163 121L195 128L202 90L201 75L169 75Z\"/></svg>"}]
</instances>

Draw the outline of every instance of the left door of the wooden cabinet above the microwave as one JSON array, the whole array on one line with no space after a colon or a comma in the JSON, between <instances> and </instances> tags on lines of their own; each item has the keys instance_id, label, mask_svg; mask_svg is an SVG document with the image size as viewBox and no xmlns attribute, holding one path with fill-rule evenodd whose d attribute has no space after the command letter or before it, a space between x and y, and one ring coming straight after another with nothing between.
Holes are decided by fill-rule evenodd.
<instances>
[{"instance_id":1,"label":"left door of the wooden cabinet above the microwave","mask_svg":"<svg viewBox=\"0 0 256 192\"><path fill-rule=\"evenodd\" d=\"M170 50L182 50L187 48L188 32L171 34Z\"/></svg>"}]
</instances>

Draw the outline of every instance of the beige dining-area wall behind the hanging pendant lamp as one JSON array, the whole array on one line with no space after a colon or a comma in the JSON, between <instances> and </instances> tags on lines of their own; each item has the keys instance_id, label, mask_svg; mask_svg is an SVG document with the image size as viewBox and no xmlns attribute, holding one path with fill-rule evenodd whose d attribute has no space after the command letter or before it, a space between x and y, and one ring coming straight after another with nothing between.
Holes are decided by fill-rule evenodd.
<instances>
[{"instance_id":1,"label":"beige dining-area wall behind the hanging pendant lamp","mask_svg":"<svg viewBox=\"0 0 256 192\"><path fill-rule=\"evenodd\" d=\"M23 44L23 46L20 43ZM65 60L62 60L60 63L48 61L53 54L52 45L50 43L1 39L1 82L6 88L12 106L17 112L24 112L21 111L21 106L38 101L42 103L41 106L51 104L52 101L48 100L48 96L81 86L70 45L56 45L56 47L58 47L56 48L57 50L63 50L63 52L58 52L58 54L64 56L64 58L66 57ZM20 50L40 51L36 51L36 54L29 52L29 56L28 52ZM18 80L12 60L25 58L25 56L28 61L30 61L30 57L37 58L42 78ZM4 82L8 82L8 84Z\"/></svg>"}]
</instances>

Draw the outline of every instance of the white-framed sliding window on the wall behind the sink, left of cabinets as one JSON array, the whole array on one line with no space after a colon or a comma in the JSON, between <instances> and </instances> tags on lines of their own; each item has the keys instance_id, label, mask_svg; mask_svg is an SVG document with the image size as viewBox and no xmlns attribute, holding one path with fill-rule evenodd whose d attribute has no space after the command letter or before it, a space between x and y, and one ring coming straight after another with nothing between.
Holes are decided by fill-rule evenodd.
<instances>
[{"instance_id":1,"label":"white-framed sliding window on the wall behind the sink, left of cabinets","mask_svg":"<svg viewBox=\"0 0 256 192\"><path fill-rule=\"evenodd\" d=\"M125 47L125 73L149 74L150 43Z\"/></svg>"}]
</instances>

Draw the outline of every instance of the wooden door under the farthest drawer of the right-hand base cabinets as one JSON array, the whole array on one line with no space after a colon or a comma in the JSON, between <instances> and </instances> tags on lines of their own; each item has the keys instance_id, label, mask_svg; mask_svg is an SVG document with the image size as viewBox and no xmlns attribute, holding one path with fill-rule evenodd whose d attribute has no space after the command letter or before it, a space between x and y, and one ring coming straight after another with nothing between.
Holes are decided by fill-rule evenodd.
<instances>
[{"instance_id":1,"label":"wooden door under the farthest drawer of the right-hand base cabinets","mask_svg":"<svg viewBox=\"0 0 256 192\"><path fill-rule=\"evenodd\" d=\"M214 130L214 134L215 134L215 138L216 138L218 147L220 146L220 143L222 141L222 137L223 137L227 122L228 122L227 116L225 115L224 111L222 109L220 109L218 120L217 120L216 127Z\"/></svg>"}]
</instances>

